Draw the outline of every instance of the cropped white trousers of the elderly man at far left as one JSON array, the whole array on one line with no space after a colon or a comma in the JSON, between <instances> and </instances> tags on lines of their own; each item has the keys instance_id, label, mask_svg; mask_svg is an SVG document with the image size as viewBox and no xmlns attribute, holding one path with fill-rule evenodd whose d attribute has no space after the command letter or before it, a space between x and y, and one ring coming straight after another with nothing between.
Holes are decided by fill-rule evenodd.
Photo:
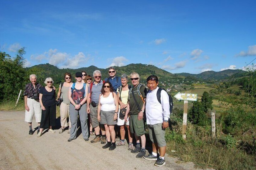
<instances>
[{"instance_id":1,"label":"cropped white trousers of the elderly man at far left","mask_svg":"<svg viewBox=\"0 0 256 170\"><path fill-rule=\"evenodd\" d=\"M27 98L27 106L29 107L29 111L25 110L25 122L32 122L34 115L36 117L36 122L41 122L42 109L40 102Z\"/></svg>"}]
</instances>

